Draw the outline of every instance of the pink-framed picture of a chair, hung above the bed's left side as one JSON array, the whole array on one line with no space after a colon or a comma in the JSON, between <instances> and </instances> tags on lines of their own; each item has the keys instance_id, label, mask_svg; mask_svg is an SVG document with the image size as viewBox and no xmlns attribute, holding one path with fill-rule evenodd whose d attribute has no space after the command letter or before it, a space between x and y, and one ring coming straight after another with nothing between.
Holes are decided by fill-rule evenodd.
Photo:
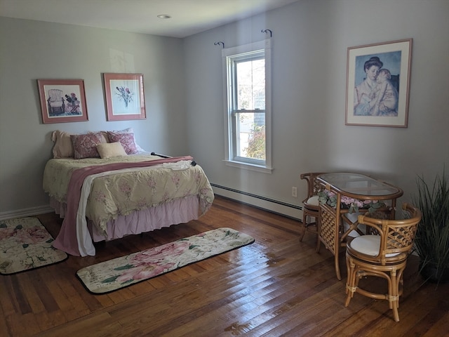
<instances>
[{"instance_id":1,"label":"pink-framed picture of a chair, hung above the bed's left side","mask_svg":"<svg viewBox=\"0 0 449 337\"><path fill-rule=\"evenodd\" d=\"M43 124L88 121L83 79L38 79Z\"/></svg>"}]
</instances>

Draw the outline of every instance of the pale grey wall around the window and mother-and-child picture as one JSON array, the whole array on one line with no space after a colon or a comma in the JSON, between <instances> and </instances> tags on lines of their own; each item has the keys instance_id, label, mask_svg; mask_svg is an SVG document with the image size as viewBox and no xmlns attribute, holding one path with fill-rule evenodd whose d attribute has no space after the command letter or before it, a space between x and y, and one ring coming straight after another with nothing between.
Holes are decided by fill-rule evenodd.
<instances>
[{"instance_id":1,"label":"pale grey wall around the window and mother-and-child picture","mask_svg":"<svg viewBox=\"0 0 449 337\"><path fill-rule=\"evenodd\" d=\"M369 173L403 188L449 166L449 1L302 0L185 39L189 148L212 183L297 204L300 173ZM272 174L226 166L221 46L273 32ZM413 39L408 128L345 126L347 48Z\"/></svg>"}]
</instances>

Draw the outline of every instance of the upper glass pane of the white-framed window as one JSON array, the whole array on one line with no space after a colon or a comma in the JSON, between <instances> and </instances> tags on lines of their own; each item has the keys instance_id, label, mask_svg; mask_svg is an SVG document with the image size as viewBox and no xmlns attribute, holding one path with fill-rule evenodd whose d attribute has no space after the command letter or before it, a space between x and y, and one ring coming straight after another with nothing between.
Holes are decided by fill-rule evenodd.
<instances>
[{"instance_id":1,"label":"upper glass pane of the white-framed window","mask_svg":"<svg viewBox=\"0 0 449 337\"><path fill-rule=\"evenodd\" d=\"M265 60L236 62L237 110L265 110Z\"/></svg>"}]
</instances>

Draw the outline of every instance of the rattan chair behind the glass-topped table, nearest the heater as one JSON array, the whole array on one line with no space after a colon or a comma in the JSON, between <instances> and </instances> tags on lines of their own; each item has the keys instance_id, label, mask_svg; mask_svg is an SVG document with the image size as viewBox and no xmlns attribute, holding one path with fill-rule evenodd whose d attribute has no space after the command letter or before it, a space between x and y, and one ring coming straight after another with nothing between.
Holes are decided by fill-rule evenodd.
<instances>
[{"instance_id":1,"label":"rattan chair behind the glass-topped table, nearest the heater","mask_svg":"<svg viewBox=\"0 0 449 337\"><path fill-rule=\"evenodd\" d=\"M307 181L307 197L302 200L302 232L300 234L300 241L304 238L306 232L318 233L319 221L319 202L318 192L323 190L323 186L316 181L319 172L302 173L300 178ZM314 220L311 220L314 218Z\"/></svg>"}]
</instances>

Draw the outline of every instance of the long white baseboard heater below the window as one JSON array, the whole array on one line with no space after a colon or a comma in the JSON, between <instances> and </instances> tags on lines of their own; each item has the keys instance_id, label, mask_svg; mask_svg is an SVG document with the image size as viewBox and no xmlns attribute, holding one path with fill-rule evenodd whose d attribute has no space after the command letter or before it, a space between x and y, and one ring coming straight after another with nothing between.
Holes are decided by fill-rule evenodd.
<instances>
[{"instance_id":1,"label":"long white baseboard heater below the window","mask_svg":"<svg viewBox=\"0 0 449 337\"><path fill-rule=\"evenodd\" d=\"M266 211L288 216L289 218L294 218L297 220L302 219L302 207L299 205L288 204L284 201L262 197L257 194L243 192L234 188L213 183L210 183L210 186L212 186L215 194L222 197L227 197L229 199L243 202L244 204L249 204L251 206L264 209Z\"/></svg>"}]
</instances>

